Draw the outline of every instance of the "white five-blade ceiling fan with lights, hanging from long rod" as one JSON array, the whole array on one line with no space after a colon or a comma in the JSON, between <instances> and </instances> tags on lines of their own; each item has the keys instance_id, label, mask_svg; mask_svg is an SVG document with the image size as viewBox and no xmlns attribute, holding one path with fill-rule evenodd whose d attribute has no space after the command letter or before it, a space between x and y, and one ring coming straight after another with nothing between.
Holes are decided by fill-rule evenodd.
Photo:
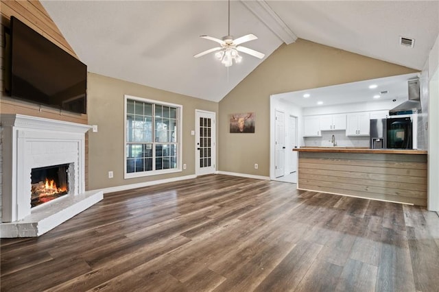
<instances>
[{"instance_id":1,"label":"white five-blade ceiling fan with lights, hanging from long rod","mask_svg":"<svg viewBox=\"0 0 439 292\"><path fill-rule=\"evenodd\" d=\"M260 53L259 51L254 51L253 49L248 49L247 47L240 46L244 42L249 42L250 40L256 40L257 36L254 34L247 34L246 36L241 36L240 38L233 39L233 36L230 36L230 0L228 0L228 34L224 36L221 40L219 38L213 38L211 36L200 36L200 38L206 38L206 40L213 40L214 42L219 43L221 47L214 47L213 49L208 49L206 51L202 51L201 53L193 56L194 58L198 58L204 56L208 53L215 53L215 58L220 60L224 66L232 66L233 60L235 63L239 63L242 60L242 57L239 55L238 51L242 53L247 53L250 56L254 56L256 58L262 59L265 54Z\"/></svg>"}]
</instances>

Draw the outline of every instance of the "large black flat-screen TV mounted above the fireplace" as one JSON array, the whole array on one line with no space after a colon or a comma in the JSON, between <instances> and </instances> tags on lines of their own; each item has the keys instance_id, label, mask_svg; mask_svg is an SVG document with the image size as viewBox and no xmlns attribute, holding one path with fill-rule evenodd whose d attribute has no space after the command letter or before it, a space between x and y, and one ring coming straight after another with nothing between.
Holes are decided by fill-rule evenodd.
<instances>
[{"instance_id":1,"label":"large black flat-screen TV mounted above the fireplace","mask_svg":"<svg viewBox=\"0 0 439 292\"><path fill-rule=\"evenodd\" d=\"M10 95L85 114L87 66L14 16L10 27Z\"/></svg>"}]
</instances>

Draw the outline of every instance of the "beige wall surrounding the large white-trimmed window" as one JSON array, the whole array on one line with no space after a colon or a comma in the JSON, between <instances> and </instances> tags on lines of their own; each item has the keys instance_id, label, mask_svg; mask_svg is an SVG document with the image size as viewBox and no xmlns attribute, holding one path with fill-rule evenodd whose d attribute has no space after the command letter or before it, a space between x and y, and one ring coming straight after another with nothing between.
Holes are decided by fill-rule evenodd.
<instances>
[{"instance_id":1,"label":"beige wall surrounding the large white-trimmed window","mask_svg":"<svg viewBox=\"0 0 439 292\"><path fill-rule=\"evenodd\" d=\"M108 188L163 180L195 174L195 109L218 112L218 104L123 80L88 74L88 123L98 125L98 132L88 134L88 188ZM124 95L144 97L183 106L182 163L187 169L178 173L152 175L144 178L123 179L123 102ZM114 178L108 178L114 171Z\"/></svg>"}]
</instances>

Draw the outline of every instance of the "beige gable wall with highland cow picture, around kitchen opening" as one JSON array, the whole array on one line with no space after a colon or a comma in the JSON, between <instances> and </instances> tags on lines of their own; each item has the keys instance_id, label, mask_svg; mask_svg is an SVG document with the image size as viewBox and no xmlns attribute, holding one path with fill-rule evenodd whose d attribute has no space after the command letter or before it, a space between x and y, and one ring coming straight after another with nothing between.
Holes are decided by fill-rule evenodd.
<instances>
[{"instance_id":1,"label":"beige gable wall with highland cow picture, around kitchen opening","mask_svg":"<svg viewBox=\"0 0 439 292\"><path fill-rule=\"evenodd\" d=\"M307 40L281 45L219 102L219 171L270 175L270 95L414 72ZM254 134L228 133L237 112L256 113Z\"/></svg>"}]
</instances>

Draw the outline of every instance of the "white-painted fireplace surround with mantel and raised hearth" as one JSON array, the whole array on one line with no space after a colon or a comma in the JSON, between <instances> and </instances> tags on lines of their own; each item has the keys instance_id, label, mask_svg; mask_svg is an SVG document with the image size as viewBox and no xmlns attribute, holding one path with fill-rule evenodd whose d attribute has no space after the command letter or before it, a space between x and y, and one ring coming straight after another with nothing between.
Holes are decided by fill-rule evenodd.
<instances>
[{"instance_id":1,"label":"white-painted fireplace surround with mantel and raised hearth","mask_svg":"<svg viewBox=\"0 0 439 292\"><path fill-rule=\"evenodd\" d=\"M69 201L76 204L79 197L84 197L82 194L85 193L85 133L91 129L91 125L29 117L22 114L2 114L1 127L3 129L3 188L1 194L3 226L1 226L1 235L2 237L10 237L4 236L4 233L10 232L14 228L4 226L5 222L25 222L29 217L32 217L31 213L34 213L34 209L57 208L60 204L55 204L55 201L58 200L65 201L61 205L70 205L70 203L66 203ZM31 210L31 170L37 167L63 164L73 165L73 171L69 172L71 175L69 182L73 182L73 185L69 186L69 194L54 200L53 203L45 203ZM88 195L86 195L87 198ZM99 196L102 199L102 192ZM71 209L72 206L62 207L64 210L65 208ZM73 207L73 209L78 208ZM81 206L79 209L79 212L82 212L85 208ZM62 212L62 210L60 211ZM47 210L40 212L54 213ZM73 213L77 214L78 212ZM69 219L74 215L61 217ZM59 215L57 216L59 217ZM67 219L64 218L62 221ZM38 223L34 225L38 225ZM23 226L14 226L17 229L23 229ZM29 232L27 233L29 234Z\"/></svg>"}]
</instances>

